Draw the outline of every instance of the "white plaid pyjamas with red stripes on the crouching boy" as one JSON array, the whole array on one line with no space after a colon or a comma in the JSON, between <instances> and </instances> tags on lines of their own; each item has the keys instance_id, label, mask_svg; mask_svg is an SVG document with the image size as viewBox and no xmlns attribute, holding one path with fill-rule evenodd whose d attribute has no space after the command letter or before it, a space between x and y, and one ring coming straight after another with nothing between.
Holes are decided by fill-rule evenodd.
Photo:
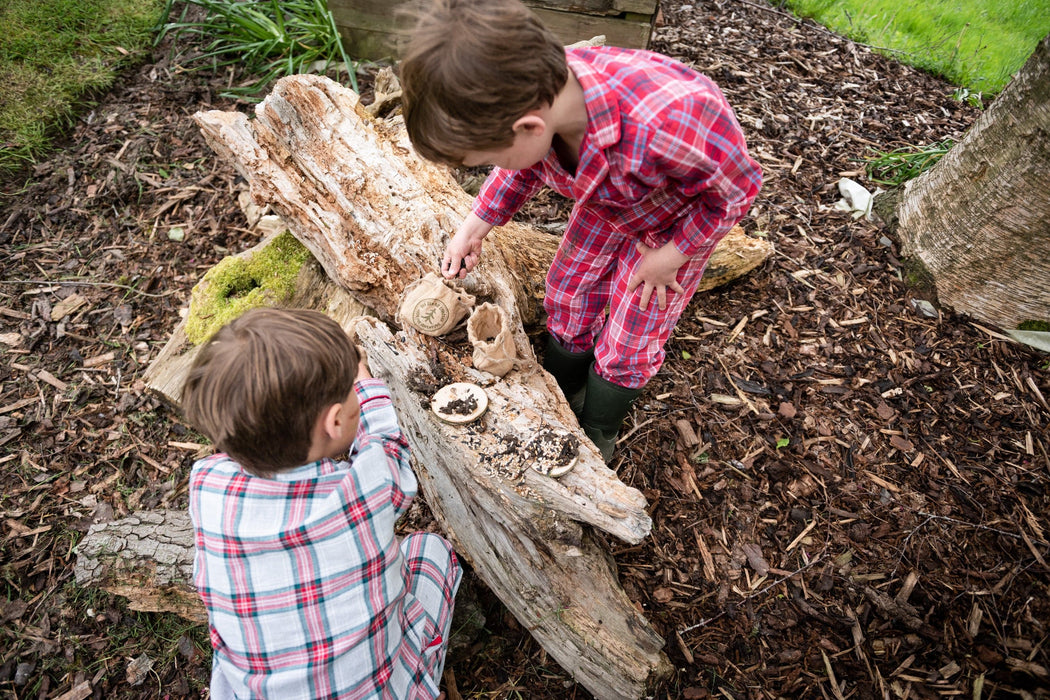
<instances>
[{"instance_id":1,"label":"white plaid pyjamas with red stripes on the crouching boy","mask_svg":"<svg viewBox=\"0 0 1050 700\"><path fill-rule=\"evenodd\" d=\"M350 463L261 479L226 454L194 464L194 581L214 649L212 697L435 698L460 567L395 523L417 491L390 394L355 384Z\"/></svg>"}]
</instances>

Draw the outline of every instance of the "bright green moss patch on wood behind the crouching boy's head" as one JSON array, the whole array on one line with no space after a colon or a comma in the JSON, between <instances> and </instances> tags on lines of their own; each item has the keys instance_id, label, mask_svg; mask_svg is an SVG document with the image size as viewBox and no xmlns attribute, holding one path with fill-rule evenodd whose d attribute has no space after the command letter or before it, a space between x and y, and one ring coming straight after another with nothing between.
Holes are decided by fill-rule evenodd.
<instances>
[{"instance_id":1,"label":"bright green moss patch on wood behind the crouching boy's head","mask_svg":"<svg viewBox=\"0 0 1050 700\"><path fill-rule=\"evenodd\" d=\"M249 309L287 303L310 258L307 247L288 232L251 255L224 258L193 288L186 337L200 345Z\"/></svg>"}]
</instances>

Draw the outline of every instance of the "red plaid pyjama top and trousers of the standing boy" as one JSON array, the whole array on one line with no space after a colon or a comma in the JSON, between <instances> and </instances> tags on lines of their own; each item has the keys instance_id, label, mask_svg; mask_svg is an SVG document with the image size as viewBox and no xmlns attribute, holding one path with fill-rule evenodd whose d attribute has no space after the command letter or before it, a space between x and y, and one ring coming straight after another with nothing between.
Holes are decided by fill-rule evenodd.
<instances>
[{"instance_id":1,"label":"red plaid pyjama top and trousers of the standing boy","mask_svg":"<svg viewBox=\"0 0 1050 700\"><path fill-rule=\"evenodd\" d=\"M569 351L593 347L597 373L634 388L663 363L711 252L757 196L761 170L705 76L651 51L569 49L567 58L588 113L575 173L553 149L527 170L497 168L474 212L506 224L544 185L576 200L547 275L548 330ZM650 248L673 241L690 256L677 277L686 293L668 291L664 311L655 300L639 311L640 288L627 294L639 240Z\"/></svg>"}]
</instances>

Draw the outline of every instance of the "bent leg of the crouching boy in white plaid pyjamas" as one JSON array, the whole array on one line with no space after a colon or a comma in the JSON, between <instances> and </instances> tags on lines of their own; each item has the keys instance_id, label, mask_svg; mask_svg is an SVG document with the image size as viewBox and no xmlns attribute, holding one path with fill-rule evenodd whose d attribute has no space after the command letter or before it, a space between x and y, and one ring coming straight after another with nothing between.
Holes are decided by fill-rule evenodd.
<instances>
[{"instance_id":1,"label":"bent leg of the crouching boy in white plaid pyjamas","mask_svg":"<svg viewBox=\"0 0 1050 700\"><path fill-rule=\"evenodd\" d=\"M434 623L440 641L424 651L427 672L434 681L441 681L448 649L448 633L453 619L453 603L459 589L463 569L456 559L452 545L444 537L427 532L415 532L401 540L408 573L408 591L418 600L426 616Z\"/></svg>"}]
</instances>

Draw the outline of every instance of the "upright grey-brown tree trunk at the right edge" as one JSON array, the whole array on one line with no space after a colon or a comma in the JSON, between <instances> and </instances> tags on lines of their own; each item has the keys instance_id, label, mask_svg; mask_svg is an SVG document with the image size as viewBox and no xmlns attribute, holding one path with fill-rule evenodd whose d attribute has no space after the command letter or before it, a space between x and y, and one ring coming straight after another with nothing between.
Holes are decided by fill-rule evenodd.
<instances>
[{"instance_id":1,"label":"upright grey-brown tree trunk at the right edge","mask_svg":"<svg viewBox=\"0 0 1050 700\"><path fill-rule=\"evenodd\" d=\"M876 211L942 303L1015 328L1050 321L1048 192L1050 36L963 140Z\"/></svg>"}]
</instances>

